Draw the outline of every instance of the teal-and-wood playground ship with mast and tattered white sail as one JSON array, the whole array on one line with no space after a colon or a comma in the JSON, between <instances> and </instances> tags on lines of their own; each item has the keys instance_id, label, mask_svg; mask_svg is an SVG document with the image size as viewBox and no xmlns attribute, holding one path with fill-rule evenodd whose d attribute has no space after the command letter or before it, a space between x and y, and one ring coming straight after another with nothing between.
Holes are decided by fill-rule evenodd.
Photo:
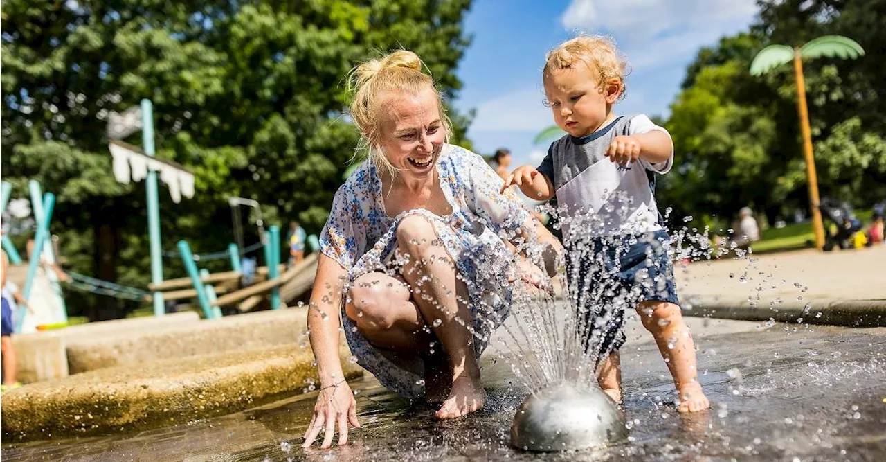
<instances>
[{"instance_id":1,"label":"teal-and-wood playground ship with mast and tattered white sail","mask_svg":"<svg viewBox=\"0 0 886 462\"><path fill-rule=\"evenodd\" d=\"M36 330L67 325L67 309L60 284L62 282L74 289L94 294L133 301L151 301L155 317L166 313L165 301L196 300L198 308L206 319L221 317L222 308L229 306L236 307L229 310L231 314L253 310L260 305L265 294L269 295L270 308L280 309L285 303L303 294L313 283L316 255L308 255L306 259L291 268L284 268L280 262L280 229L274 225L265 231L260 215L257 223L260 242L243 247L243 231L242 223L238 220L238 207L249 205L259 211L258 202L254 200L230 198L237 243L229 244L228 249L209 254L193 254L189 243L180 240L176 245L176 253L161 250L158 179L167 184L172 200L177 203L182 197L193 196L194 176L175 162L162 161L154 157L152 107L149 99L143 99L140 106L131 107L122 114L113 113L108 120L108 137L111 140L108 147L113 157L114 177L124 184L143 179L145 181L147 228L151 250L151 283L147 285L147 290L120 286L113 281L61 270L57 265L57 255L51 246L50 223L55 196L51 192L43 194L40 184L31 180L28 182L28 189L30 212L33 213L35 228L35 251L27 255L27 264L25 264L9 236L4 234L0 243L11 262L10 279L24 287L22 295L28 306L28 309L19 309L17 333L33 333ZM122 138L139 130L142 131L144 150L121 141ZM0 183L0 215L6 212L11 198L12 184ZM20 220L25 216L17 218ZM305 244L311 252L315 252L319 247L315 235L308 236ZM245 260L241 258L260 249L263 249L265 266L254 268L250 265L245 269ZM181 258L188 276L164 281L164 256ZM231 270L209 274L206 270L198 269L198 262L222 258L230 260ZM254 260L249 262L252 263Z\"/></svg>"}]
</instances>

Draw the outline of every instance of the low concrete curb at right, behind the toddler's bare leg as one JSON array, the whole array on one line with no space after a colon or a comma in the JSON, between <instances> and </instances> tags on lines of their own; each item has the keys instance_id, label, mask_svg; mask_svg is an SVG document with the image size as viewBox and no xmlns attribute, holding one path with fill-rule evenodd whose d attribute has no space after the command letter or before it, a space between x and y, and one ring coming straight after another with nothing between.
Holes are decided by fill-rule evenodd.
<instances>
[{"instance_id":1,"label":"low concrete curb at right, behind the toddler's bare leg","mask_svg":"<svg viewBox=\"0 0 886 462\"><path fill-rule=\"evenodd\" d=\"M684 304L683 315L742 321L772 319L781 323L884 327L886 326L886 300L815 299L781 302L761 300L756 305L752 305L747 299L702 299L691 309L688 309Z\"/></svg>"}]
</instances>

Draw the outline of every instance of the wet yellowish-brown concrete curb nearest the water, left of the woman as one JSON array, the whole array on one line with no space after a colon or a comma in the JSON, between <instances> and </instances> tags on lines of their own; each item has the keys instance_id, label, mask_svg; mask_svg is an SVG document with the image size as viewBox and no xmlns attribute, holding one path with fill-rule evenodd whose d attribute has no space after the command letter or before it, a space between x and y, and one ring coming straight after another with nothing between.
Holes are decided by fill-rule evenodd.
<instances>
[{"instance_id":1,"label":"wet yellowish-brown concrete curb nearest the water, left of the woman","mask_svg":"<svg viewBox=\"0 0 886 462\"><path fill-rule=\"evenodd\" d=\"M341 348L347 379L362 375ZM108 435L184 424L307 391L310 348L239 351L84 372L0 395L0 441Z\"/></svg>"}]
</instances>

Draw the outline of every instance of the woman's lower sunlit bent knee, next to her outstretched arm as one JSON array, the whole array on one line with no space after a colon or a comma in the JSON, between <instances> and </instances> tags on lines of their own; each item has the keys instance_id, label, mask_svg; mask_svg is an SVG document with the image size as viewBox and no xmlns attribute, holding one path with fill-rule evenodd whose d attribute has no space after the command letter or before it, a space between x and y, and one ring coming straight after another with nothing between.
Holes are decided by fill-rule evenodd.
<instances>
[{"instance_id":1,"label":"woman's lower sunlit bent knee, next to her outstretched arm","mask_svg":"<svg viewBox=\"0 0 886 462\"><path fill-rule=\"evenodd\" d=\"M407 286L400 281L367 275L354 281L348 291L345 314L357 327L389 329L397 322L397 311L392 305L409 300Z\"/></svg>"}]
</instances>

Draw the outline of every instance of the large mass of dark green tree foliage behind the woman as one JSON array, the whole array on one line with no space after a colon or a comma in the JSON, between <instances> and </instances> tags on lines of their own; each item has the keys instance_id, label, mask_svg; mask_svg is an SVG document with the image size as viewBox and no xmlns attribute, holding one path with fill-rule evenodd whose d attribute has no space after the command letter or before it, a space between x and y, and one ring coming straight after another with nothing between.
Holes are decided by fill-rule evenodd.
<instances>
[{"instance_id":1,"label":"large mass of dark green tree foliage behind the woman","mask_svg":"<svg viewBox=\"0 0 886 462\"><path fill-rule=\"evenodd\" d=\"M13 195L27 196L27 179L58 195L52 231L74 270L144 287L144 184L113 180L105 124L109 111L151 98L157 155L196 174L192 200L173 204L160 187L164 248L178 239L195 252L226 248L231 196L258 200L268 223L298 219L318 232L354 156L357 134L344 115L348 70L407 48L454 98L469 7L470 0L7 0L0 177ZM462 142L470 118L452 116ZM181 275L179 262L167 263L167 278ZM122 308L109 302L88 314L118 317Z\"/></svg>"}]
</instances>

